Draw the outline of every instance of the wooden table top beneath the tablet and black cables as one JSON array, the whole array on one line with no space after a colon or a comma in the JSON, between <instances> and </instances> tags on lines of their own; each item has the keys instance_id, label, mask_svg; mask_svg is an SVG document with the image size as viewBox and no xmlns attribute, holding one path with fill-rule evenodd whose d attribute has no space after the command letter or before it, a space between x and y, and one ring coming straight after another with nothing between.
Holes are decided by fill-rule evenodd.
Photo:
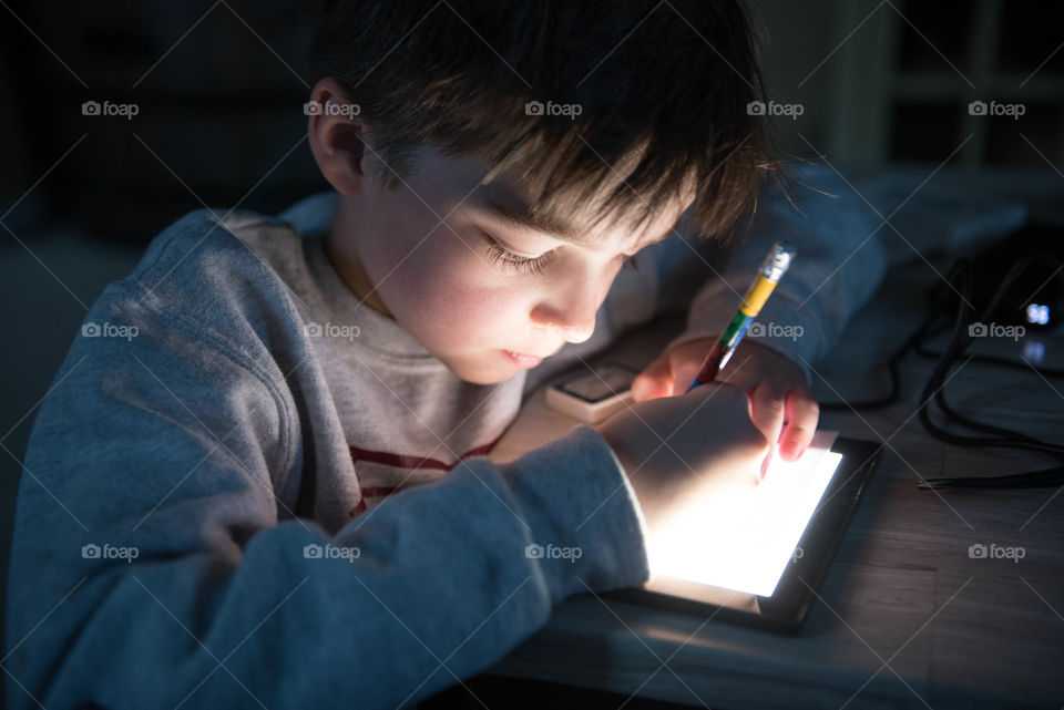
<instances>
[{"instance_id":1,"label":"wooden table top beneath the tablet and black cables","mask_svg":"<svg viewBox=\"0 0 1064 710\"><path fill-rule=\"evenodd\" d=\"M939 271L947 267L935 264ZM923 318L931 268L893 271L816 364L821 402L879 394L886 361ZM1029 336L1029 339L1033 339ZM1062 338L1043 338L1061 368ZM656 354L661 333L630 339L622 360ZM1022 343L990 343L1019 360ZM985 343L980 343L985 348ZM868 367L855 367L867 362ZM921 476L1047 467L1037 455L947 445L914 415L931 360L902 363L902 401L868 413L825 412L821 426L886 442L835 564L797 637L781 637L593 595L567 600L491 673L710 708L1004 708L1064 706L1064 495L920 491ZM1064 382L971 361L947 387L978 419L1064 440ZM539 392L499 455L573 425ZM972 557L975 544L1021 547L1019 562Z\"/></svg>"}]
</instances>

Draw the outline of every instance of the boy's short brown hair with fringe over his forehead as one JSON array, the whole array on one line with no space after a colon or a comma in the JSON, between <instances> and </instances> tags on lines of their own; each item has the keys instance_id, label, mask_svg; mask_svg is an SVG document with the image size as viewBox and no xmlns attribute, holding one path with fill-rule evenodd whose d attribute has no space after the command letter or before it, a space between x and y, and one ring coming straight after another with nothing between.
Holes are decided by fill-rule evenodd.
<instances>
[{"instance_id":1,"label":"boy's short brown hair with fringe over his forehead","mask_svg":"<svg viewBox=\"0 0 1064 710\"><path fill-rule=\"evenodd\" d=\"M764 97L756 52L737 0L325 0L310 65L359 104L399 175L422 144L520 160L533 212L559 215L620 171L600 219L647 219L694 181L689 226L727 237L781 173L748 110Z\"/></svg>"}]
</instances>

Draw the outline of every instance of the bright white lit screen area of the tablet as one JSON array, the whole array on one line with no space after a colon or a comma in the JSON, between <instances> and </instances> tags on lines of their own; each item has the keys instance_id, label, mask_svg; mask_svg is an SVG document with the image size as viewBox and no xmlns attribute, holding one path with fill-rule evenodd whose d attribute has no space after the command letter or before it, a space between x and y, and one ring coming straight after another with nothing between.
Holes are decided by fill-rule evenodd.
<instances>
[{"instance_id":1,"label":"bright white lit screen area of the tablet","mask_svg":"<svg viewBox=\"0 0 1064 710\"><path fill-rule=\"evenodd\" d=\"M842 460L830 451L837 436L817 432L795 462L777 455L760 485L692 496L649 541L653 574L771 596Z\"/></svg>"}]
</instances>

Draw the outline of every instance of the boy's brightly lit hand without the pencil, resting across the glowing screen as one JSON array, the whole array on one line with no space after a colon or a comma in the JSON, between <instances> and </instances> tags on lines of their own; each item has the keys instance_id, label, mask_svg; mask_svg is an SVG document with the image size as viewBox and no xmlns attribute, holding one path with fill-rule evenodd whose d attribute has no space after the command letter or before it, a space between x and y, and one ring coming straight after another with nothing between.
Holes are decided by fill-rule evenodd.
<instances>
[{"instance_id":1,"label":"boy's brightly lit hand without the pencil, resting across the glowing screen","mask_svg":"<svg viewBox=\"0 0 1064 710\"><path fill-rule=\"evenodd\" d=\"M749 398L733 384L636 403L598 433L624 466L652 539L685 515L685 501L756 485L768 451Z\"/></svg>"}]
</instances>

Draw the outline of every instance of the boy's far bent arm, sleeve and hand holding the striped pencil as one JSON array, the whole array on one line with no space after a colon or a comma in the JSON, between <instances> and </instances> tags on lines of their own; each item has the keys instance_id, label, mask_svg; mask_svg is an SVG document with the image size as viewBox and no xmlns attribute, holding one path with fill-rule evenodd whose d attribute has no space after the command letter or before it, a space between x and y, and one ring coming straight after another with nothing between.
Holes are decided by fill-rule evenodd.
<instances>
[{"instance_id":1,"label":"boy's far bent arm, sleeve and hand holding the striped pencil","mask_svg":"<svg viewBox=\"0 0 1064 710\"><path fill-rule=\"evenodd\" d=\"M692 291L696 295L685 331L633 383L637 400L683 392L735 316L773 244L787 239L797 257L720 379L747 391L755 423L770 441L779 440L789 460L808 446L819 419L809 389L810 367L838 341L884 268L879 223L861 197L825 168L792 174L795 204L778 186L768 189L749 233L719 254L713 254L713 244L699 244L690 235L662 243L654 255L658 310L675 308ZM708 275L695 289L692 274L697 275L699 266Z\"/></svg>"}]
</instances>

